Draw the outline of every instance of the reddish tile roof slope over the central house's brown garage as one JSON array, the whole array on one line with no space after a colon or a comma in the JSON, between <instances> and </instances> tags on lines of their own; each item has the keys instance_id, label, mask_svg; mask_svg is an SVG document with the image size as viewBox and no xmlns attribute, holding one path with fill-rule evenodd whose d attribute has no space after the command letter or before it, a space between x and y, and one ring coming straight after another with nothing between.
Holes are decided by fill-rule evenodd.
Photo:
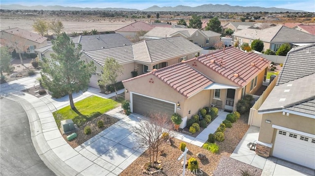
<instances>
[{"instance_id":1,"label":"reddish tile roof slope over the central house's brown garage","mask_svg":"<svg viewBox=\"0 0 315 176\"><path fill-rule=\"evenodd\" d=\"M164 67L148 74L124 80L123 82L131 81L148 75L156 76L158 79L172 87L175 91L182 94L186 98L195 95L213 83L209 77L199 73L185 62Z\"/></svg>"}]
</instances>

